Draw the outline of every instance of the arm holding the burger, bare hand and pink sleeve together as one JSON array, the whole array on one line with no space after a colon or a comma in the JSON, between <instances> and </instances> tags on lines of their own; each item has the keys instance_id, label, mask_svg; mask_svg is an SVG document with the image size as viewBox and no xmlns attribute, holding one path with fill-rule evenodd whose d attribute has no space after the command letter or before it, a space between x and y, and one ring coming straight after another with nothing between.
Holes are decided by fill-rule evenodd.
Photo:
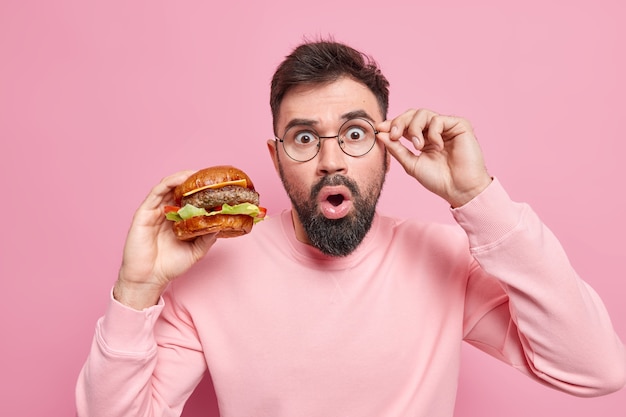
<instances>
[{"instance_id":1,"label":"arm holding the burger, bare hand and pink sleeve together","mask_svg":"<svg viewBox=\"0 0 626 417\"><path fill-rule=\"evenodd\" d=\"M108 310L76 387L79 417L179 414L206 365L195 332L182 317L157 322L168 284L206 254L215 235L178 240L163 207L190 172L163 179L133 217ZM158 346L155 326L177 348ZM175 342L174 342L175 341Z\"/></svg>"}]
</instances>

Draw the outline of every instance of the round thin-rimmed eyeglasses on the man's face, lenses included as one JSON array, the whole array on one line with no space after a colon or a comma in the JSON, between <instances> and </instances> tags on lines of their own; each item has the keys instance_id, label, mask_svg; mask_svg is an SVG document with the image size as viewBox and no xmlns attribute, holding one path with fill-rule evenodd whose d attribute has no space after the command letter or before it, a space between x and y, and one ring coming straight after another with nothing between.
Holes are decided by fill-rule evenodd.
<instances>
[{"instance_id":1,"label":"round thin-rimmed eyeglasses on the man's face, lenses included","mask_svg":"<svg viewBox=\"0 0 626 417\"><path fill-rule=\"evenodd\" d=\"M339 128L335 136L320 136L308 125L293 125L283 138L275 137L283 143L288 157L298 162L307 162L315 158L322 147L322 139L337 139L339 147L346 155L358 157L372 150L379 132L369 120L349 119Z\"/></svg>"}]
</instances>

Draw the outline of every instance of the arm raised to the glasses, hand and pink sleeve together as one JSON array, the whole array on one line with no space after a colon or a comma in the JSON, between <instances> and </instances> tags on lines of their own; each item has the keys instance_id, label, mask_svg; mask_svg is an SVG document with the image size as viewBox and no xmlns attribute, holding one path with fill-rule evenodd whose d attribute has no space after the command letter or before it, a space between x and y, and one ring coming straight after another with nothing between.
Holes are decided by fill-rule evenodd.
<instances>
[{"instance_id":1,"label":"arm raised to the glasses, hand and pink sleeve together","mask_svg":"<svg viewBox=\"0 0 626 417\"><path fill-rule=\"evenodd\" d=\"M466 340L575 395L621 388L624 346L600 297L532 209L492 181L470 123L421 109L377 127L405 171L450 203L468 235L478 263L468 284Z\"/></svg>"}]
</instances>

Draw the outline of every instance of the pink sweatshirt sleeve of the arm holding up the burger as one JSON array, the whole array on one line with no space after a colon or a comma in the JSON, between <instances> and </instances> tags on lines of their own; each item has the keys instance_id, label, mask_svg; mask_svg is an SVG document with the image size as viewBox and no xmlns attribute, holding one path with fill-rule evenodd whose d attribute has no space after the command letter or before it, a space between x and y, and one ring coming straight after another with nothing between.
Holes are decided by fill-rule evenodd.
<instances>
[{"instance_id":1,"label":"pink sweatshirt sleeve of the arm holding up the burger","mask_svg":"<svg viewBox=\"0 0 626 417\"><path fill-rule=\"evenodd\" d=\"M179 416L206 364L166 301L142 311L111 297L76 385L78 417Z\"/></svg>"}]
</instances>

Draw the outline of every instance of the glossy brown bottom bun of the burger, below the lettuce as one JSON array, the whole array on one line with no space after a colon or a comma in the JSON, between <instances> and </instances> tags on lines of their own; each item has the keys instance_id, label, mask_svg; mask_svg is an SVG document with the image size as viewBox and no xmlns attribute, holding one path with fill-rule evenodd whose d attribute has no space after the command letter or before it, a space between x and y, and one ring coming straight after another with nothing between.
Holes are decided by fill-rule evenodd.
<instances>
[{"instance_id":1,"label":"glossy brown bottom bun of the burger, below the lettuce","mask_svg":"<svg viewBox=\"0 0 626 417\"><path fill-rule=\"evenodd\" d=\"M218 238L237 237L250 233L254 219L244 214L197 216L174 223L174 233L180 240L190 240L209 233Z\"/></svg>"}]
</instances>

